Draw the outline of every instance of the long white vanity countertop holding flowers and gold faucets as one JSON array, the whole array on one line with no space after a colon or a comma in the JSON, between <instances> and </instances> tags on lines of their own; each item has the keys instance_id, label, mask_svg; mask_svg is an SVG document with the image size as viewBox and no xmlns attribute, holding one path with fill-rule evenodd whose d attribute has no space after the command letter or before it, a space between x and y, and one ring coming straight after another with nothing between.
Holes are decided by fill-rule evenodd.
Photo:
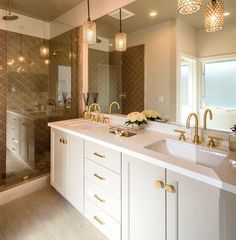
<instances>
[{"instance_id":1,"label":"long white vanity countertop holding flowers and gold faucets","mask_svg":"<svg viewBox=\"0 0 236 240\"><path fill-rule=\"evenodd\" d=\"M159 133L156 131L144 130L132 137L118 137L109 133L109 124L102 125L94 123L96 127L91 127L89 129L83 127L83 124L81 124L81 126L80 124L70 124L73 122L79 123L79 121L79 119L66 120L49 123L48 125L85 140L131 155L141 161L152 163L236 194L236 168L232 167L229 158L223 160L218 167L213 169L186 160L179 160L145 148L145 146L159 140L166 138L176 139L174 136L163 132Z\"/></svg>"}]
</instances>

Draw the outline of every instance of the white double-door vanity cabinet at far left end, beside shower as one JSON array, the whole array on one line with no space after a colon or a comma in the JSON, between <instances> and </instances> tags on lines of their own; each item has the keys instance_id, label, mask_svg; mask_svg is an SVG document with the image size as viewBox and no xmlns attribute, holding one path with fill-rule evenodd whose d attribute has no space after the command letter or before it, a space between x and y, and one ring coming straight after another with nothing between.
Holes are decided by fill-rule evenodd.
<instances>
[{"instance_id":1,"label":"white double-door vanity cabinet at far left end, beside shower","mask_svg":"<svg viewBox=\"0 0 236 240\"><path fill-rule=\"evenodd\" d=\"M51 130L51 185L83 213L83 139Z\"/></svg>"}]
</instances>

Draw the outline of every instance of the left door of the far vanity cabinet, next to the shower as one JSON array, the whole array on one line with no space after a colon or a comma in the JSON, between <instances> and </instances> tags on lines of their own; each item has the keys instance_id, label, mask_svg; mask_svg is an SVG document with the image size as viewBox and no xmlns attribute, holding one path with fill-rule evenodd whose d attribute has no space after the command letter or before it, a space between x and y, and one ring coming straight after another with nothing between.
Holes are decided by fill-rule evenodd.
<instances>
[{"instance_id":1,"label":"left door of the far vanity cabinet, next to the shower","mask_svg":"<svg viewBox=\"0 0 236 240\"><path fill-rule=\"evenodd\" d=\"M63 196L67 194L68 139L65 133L51 131L51 185Z\"/></svg>"}]
</instances>

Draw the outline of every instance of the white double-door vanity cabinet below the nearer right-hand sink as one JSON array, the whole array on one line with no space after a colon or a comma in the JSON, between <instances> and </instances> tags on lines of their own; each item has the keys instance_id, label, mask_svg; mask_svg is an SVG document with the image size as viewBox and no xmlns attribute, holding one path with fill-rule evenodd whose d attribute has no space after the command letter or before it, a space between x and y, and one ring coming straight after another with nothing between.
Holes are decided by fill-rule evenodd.
<instances>
[{"instance_id":1,"label":"white double-door vanity cabinet below the nearer right-hand sink","mask_svg":"<svg viewBox=\"0 0 236 240\"><path fill-rule=\"evenodd\" d=\"M122 176L122 240L220 239L217 188L127 155Z\"/></svg>"}]
</instances>

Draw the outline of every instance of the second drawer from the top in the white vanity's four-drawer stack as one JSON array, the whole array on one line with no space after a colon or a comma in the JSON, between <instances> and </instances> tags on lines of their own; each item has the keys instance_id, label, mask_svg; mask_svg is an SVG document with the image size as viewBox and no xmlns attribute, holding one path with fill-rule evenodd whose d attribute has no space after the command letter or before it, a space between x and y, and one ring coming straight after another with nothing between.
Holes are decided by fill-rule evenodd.
<instances>
[{"instance_id":1,"label":"second drawer from the top in the white vanity's four-drawer stack","mask_svg":"<svg viewBox=\"0 0 236 240\"><path fill-rule=\"evenodd\" d=\"M121 179L119 174L86 159L85 176L100 187L120 198Z\"/></svg>"}]
</instances>

